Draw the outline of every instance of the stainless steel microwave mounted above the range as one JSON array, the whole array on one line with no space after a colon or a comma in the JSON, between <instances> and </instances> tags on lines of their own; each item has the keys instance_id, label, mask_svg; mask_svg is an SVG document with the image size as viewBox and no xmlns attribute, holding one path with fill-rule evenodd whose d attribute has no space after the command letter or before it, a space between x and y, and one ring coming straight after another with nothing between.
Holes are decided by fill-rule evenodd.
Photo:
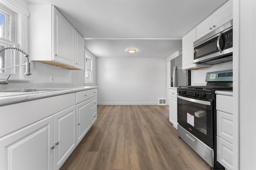
<instances>
[{"instance_id":1,"label":"stainless steel microwave mounted above the range","mask_svg":"<svg viewBox=\"0 0 256 170\"><path fill-rule=\"evenodd\" d=\"M233 20L194 42L193 63L219 64L233 60Z\"/></svg>"}]
</instances>

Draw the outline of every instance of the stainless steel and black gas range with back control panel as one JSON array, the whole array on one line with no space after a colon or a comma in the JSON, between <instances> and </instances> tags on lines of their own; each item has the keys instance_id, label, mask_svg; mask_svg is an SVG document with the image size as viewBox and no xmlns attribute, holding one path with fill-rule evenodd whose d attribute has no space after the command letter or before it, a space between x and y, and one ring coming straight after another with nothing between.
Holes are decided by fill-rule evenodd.
<instances>
[{"instance_id":1,"label":"stainless steel and black gas range with back control panel","mask_svg":"<svg viewBox=\"0 0 256 170\"><path fill-rule=\"evenodd\" d=\"M178 136L210 166L225 168L216 160L216 90L232 90L233 72L208 72L206 86L178 87Z\"/></svg>"}]
</instances>

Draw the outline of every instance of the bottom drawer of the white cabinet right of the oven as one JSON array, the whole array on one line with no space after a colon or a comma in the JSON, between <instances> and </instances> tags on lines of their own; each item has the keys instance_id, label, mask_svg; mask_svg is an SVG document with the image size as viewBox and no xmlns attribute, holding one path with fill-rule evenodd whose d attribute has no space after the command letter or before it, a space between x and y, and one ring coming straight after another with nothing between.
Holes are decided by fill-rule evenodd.
<instances>
[{"instance_id":1,"label":"bottom drawer of the white cabinet right of the oven","mask_svg":"<svg viewBox=\"0 0 256 170\"><path fill-rule=\"evenodd\" d=\"M217 136L217 161L226 169L233 169L233 145Z\"/></svg>"}]
</instances>

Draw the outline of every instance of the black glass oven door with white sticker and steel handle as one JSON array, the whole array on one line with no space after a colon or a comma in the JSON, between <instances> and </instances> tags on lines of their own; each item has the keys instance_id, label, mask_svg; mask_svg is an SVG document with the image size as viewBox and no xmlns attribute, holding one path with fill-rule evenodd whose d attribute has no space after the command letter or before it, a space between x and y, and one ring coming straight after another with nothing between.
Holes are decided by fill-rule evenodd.
<instances>
[{"instance_id":1,"label":"black glass oven door with white sticker and steel handle","mask_svg":"<svg viewBox=\"0 0 256 170\"><path fill-rule=\"evenodd\" d=\"M212 100L177 95L177 104L179 125L213 147Z\"/></svg>"}]
</instances>

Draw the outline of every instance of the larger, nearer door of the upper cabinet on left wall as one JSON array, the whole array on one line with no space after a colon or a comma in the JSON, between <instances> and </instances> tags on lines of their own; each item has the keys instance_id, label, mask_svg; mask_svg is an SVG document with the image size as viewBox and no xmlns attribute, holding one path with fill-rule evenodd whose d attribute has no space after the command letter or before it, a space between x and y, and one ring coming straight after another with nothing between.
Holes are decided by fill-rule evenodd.
<instances>
[{"instance_id":1,"label":"larger, nearer door of the upper cabinet on left wall","mask_svg":"<svg viewBox=\"0 0 256 170\"><path fill-rule=\"evenodd\" d=\"M74 67L75 29L54 6L52 14L53 61Z\"/></svg>"}]
</instances>

